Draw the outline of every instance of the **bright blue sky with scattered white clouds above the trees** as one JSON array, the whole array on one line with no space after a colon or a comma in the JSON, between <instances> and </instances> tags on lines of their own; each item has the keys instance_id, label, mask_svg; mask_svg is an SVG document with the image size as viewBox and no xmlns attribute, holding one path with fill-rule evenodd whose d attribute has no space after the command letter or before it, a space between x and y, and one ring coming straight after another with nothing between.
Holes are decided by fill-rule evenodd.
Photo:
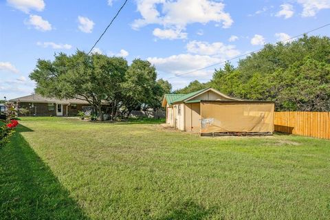
<instances>
[{"instance_id":1,"label":"bright blue sky with scattered white clouds above the trees","mask_svg":"<svg viewBox=\"0 0 330 220\"><path fill-rule=\"evenodd\" d=\"M39 58L88 51L122 3L0 0L0 99L33 92L28 75ZM214 67L180 74L329 21L330 0L129 0L94 52L124 56L129 62L147 59L159 78L170 78L177 89L191 80L208 81ZM311 34L329 36L330 27Z\"/></svg>"}]
</instances>

